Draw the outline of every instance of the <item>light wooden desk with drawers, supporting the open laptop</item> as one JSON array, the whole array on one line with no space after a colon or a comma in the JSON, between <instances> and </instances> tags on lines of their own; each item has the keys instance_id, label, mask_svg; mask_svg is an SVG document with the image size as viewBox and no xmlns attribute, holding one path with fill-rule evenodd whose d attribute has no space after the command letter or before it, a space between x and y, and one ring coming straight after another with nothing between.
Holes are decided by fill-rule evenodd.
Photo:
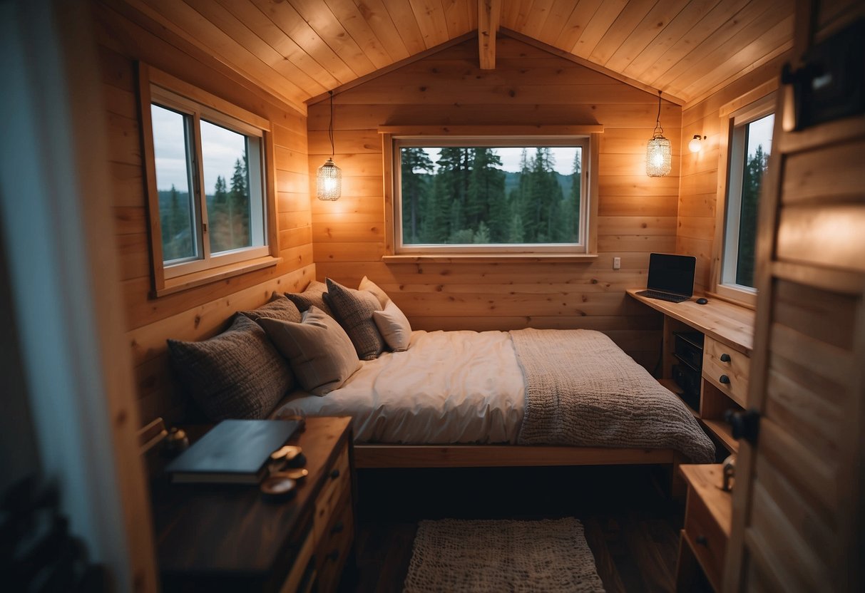
<instances>
[{"instance_id":1,"label":"light wooden desk with drawers, supporting the open laptop","mask_svg":"<svg viewBox=\"0 0 865 593\"><path fill-rule=\"evenodd\" d=\"M736 453L739 443L722 420L727 410L747 407L750 356L753 348L754 312L721 299L708 297L699 305L696 297L682 303L669 303L643 297L628 289L630 297L663 313L662 368L659 380L670 391L682 389L672 380L676 362L675 333L689 330L704 336L699 409L693 410L710 436L726 450Z\"/></svg>"}]
</instances>

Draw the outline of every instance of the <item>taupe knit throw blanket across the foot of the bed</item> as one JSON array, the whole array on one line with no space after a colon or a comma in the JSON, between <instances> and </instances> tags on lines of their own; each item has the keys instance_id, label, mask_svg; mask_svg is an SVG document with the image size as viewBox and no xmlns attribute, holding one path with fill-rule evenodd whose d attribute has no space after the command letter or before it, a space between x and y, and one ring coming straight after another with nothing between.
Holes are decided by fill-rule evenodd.
<instances>
[{"instance_id":1,"label":"taupe knit throw blanket across the foot of the bed","mask_svg":"<svg viewBox=\"0 0 865 593\"><path fill-rule=\"evenodd\" d=\"M714 461L714 445L681 399L610 338L566 329L510 332L526 382L517 443L673 449Z\"/></svg>"}]
</instances>

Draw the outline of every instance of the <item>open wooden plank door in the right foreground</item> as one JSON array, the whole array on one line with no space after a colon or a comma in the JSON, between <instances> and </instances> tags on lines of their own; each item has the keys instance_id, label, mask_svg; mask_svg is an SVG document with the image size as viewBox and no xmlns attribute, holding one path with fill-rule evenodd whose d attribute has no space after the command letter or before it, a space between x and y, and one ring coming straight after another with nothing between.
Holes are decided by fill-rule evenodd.
<instances>
[{"instance_id":1,"label":"open wooden plank door in the right foreground","mask_svg":"<svg viewBox=\"0 0 865 593\"><path fill-rule=\"evenodd\" d=\"M865 12L797 8L798 56ZM760 205L759 432L740 443L723 589L862 591L865 116L785 131L783 90Z\"/></svg>"}]
</instances>

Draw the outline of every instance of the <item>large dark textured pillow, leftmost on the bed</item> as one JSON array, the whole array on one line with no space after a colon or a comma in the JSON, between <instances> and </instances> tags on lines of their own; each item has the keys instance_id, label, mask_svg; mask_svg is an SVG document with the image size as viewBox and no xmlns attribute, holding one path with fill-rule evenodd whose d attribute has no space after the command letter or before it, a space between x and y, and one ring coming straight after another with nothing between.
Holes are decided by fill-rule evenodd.
<instances>
[{"instance_id":1,"label":"large dark textured pillow, leftmost on the bed","mask_svg":"<svg viewBox=\"0 0 865 593\"><path fill-rule=\"evenodd\" d=\"M245 316L205 341L169 340L171 364L210 420L266 418L291 391L292 371Z\"/></svg>"}]
</instances>

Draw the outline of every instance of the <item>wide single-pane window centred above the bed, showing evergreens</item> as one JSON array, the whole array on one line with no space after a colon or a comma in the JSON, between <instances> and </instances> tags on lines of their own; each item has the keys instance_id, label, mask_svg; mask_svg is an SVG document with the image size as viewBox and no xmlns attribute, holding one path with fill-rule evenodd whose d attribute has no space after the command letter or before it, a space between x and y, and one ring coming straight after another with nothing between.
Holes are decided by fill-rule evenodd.
<instances>
[{"instance_id":1,"label":"wide single-pane window centred above the bed, showing evergreens","mask_svg":"<svg viewBox=\"0 0 865 593\"><path fill-rule=\"evenodd\" d=\"M589 252L590 140L392 137L394 252Z\"/></svg>"}]
</instances>

